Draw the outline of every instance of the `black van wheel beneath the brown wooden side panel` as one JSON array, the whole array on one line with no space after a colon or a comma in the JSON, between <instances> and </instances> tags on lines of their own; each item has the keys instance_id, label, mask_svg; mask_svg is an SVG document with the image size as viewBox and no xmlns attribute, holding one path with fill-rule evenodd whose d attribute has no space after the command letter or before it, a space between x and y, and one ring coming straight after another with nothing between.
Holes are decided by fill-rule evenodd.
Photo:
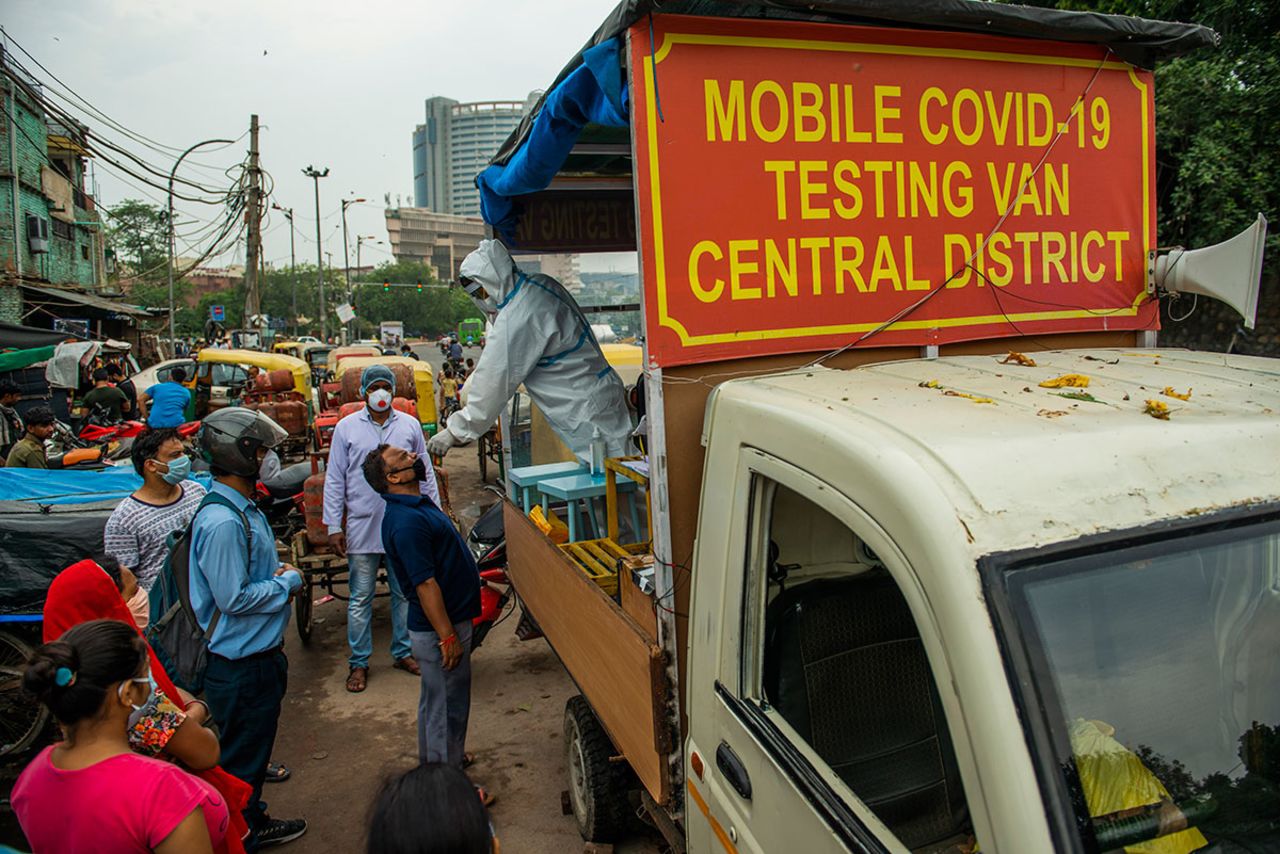
<instances>
[{"instance_id":1,"label":"black van wheel beneath the brown wooden side panel","mask_svg":"<svg viewBox=\"0 0 1280 854\"><path fill-rule=\"evenodd\" d=\"M613 741L582 695L564 704L568 799L577 831L588 842L612 842L627 827L627 766L609 762Z\"/></svg>"}]
</instances>

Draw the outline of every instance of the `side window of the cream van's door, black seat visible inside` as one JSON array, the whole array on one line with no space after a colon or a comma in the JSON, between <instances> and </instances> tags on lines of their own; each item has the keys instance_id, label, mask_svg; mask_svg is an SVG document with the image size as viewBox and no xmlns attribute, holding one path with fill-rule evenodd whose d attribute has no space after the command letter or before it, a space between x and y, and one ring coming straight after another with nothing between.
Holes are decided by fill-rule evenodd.
<instances>
[{"instance_id":1,"label":"side window of the cream van's door, black seat visible inside","mask_svg":"<svg viewBox=\"0 0 1280 854\"><path fill-rule=\"evenodd\" d=\"M814 502L760 475L753 495L745 699L781 717L780 731L901 845L963 846L973 826L960 771L897 583L856 530Z\"/></svg>"}]
</instances>

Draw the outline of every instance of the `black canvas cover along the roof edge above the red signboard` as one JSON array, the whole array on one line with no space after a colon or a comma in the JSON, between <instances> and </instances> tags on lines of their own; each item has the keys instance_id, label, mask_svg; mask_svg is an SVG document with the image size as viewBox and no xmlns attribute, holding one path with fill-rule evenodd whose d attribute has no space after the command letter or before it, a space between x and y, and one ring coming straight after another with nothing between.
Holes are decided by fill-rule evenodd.
<instances>
[{"instance_id":1,"label":"black canvas cover along the roof edge above the red signboard","mask_svg":"<svg viewBox=\"0 0 1280 854\"><path fill-rule=\"evenodd\" d=\"M561 70L550 92L582 61L582 52L625 32L649 14L698 15L703 18L760 18L915 29L946 29L1105 45L1120 59L1140 68L1172 59L1199 47L1212 47L1220 36L1201 24L1148 20L1097 12L1062 12L1039 6L1016 6L984 0L622 0L604 19L581 51ZM502 143L492 163L506 164L524 145L538 106Z\"/></svg>"}]
</instances>

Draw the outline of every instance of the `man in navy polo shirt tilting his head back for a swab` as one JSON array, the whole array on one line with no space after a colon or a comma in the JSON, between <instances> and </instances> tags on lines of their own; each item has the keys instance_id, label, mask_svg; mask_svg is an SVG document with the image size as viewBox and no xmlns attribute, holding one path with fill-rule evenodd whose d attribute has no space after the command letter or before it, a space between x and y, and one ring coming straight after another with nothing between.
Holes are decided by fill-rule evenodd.
<instances>
[{"instance_id":1,"label":"man in navy polo shirt tilting his head back for a swab","mask_svg":"<svg viewBox=\"0 0 1280 854\"><path fill-rule=\"evenodd\" d=\"M408 594L408 638L422 671L417 757L462 767L471 716L471 621L480 616L480 571L453 522L420 483L426 458L380 444L365 479L387 501L383 547Z\"/></svg>"}]
</instances>

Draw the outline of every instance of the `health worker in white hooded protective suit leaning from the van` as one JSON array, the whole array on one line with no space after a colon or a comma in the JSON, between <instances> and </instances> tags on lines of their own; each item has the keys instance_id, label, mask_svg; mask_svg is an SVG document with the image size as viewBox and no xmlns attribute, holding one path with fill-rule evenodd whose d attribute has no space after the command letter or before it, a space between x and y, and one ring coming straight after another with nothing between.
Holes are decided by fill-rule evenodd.
<instances>
[{"instance_id":1,"label":"health worker in white hooded protective suit leaning from the van","mask_svg":"<svg viewBox=\"0 0 1280 854\"><path fill-rule=\"evenodd\" d=\"M526 275L498 241L462 261L460 283L493 319L466 406L428 442L443 455L484 435L524 384L529 397L573 453L590 463L596 430L608 457L626 453L631 434L626 388L605 361L591 325L573 297L549 275ZM497 316L494 316L497 315Z\"/></svg>"}]
</instances>

